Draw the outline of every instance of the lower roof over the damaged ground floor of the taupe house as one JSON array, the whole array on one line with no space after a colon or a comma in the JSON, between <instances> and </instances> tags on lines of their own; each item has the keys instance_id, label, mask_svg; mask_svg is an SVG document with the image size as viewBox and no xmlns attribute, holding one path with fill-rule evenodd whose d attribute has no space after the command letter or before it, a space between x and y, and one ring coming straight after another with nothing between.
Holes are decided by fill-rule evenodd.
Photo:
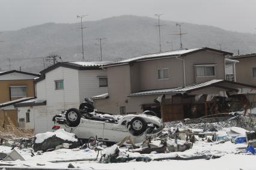
<instances>
[{"instance_id":1,"label":"lower roof over the damaged ground floor of the taupe house","mask_svg":"<svg viewBox=\"0 0 256 170\"><path fill-rule=\"evenodd\" d=\"M222 84L221 84L222 83ZM227 84L234 84L235 86L243 86L243 87L249 87L256 89L256 86L251 86L248 84L243 83L237 83L233 81L227 81L227 80L210 80L206 81L204 83L198 83L198 84L192 84L190 86L186 87L177 87L177 88L171 88L171 89L159 89L159 90L148 90L144 92L138 92L138 93L131 93L127 96L142 96L142 95L156 95L156 94L178 94L178 93L189 93L193 92L195 90L204 89L206 87L218 87L224 90L233 90L237 91L237 89L227 86Z\"/></svg>"}]
</instances>

